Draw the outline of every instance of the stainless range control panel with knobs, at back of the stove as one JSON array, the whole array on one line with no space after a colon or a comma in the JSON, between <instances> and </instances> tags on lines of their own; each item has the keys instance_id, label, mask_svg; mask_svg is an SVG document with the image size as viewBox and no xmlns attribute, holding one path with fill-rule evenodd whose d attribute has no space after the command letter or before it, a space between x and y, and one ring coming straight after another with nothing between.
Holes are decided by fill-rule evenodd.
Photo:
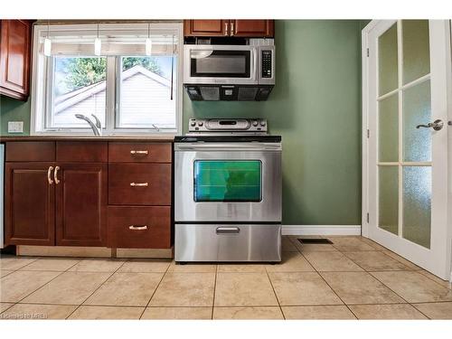
<instances>
[{"instance_id":1,"label":"stainless range control panel with knobs, at back of the stove","mask_svg":"<svg viewBox=\"0 0 452 339\"><path fill-rule=\"evenodd\" d=\"M259 133L267 134L267 119L262 118L191 118L189 133Z\"/></svg>"}]
</instances>

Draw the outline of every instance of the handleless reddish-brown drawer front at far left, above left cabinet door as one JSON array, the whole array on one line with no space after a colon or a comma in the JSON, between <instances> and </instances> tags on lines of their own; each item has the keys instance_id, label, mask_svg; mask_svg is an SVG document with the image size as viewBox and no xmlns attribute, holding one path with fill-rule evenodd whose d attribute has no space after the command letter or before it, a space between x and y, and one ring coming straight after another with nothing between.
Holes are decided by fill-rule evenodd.
<instances>
[{"instance_id":1,"label":"handleless reddish-brown drawer front at far left, above left cabinet door","mask_svg":"<svg viewBox=\"0 0 452 339\"><path fill-rule=\"evenodd\" d=\"M53 141L7 142L6 161L55 161L55 143Z\"/></svg>"}]
</instances>

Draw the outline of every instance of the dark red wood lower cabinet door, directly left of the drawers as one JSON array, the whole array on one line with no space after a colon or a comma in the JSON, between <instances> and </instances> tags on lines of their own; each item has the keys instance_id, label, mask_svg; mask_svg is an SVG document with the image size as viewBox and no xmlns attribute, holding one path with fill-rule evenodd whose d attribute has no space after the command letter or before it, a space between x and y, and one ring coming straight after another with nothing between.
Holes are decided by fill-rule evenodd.
<instances>
[{"instance_id":1,"label":"dark red wood lower cabinet door, directly left of the drawers","mask_svg":"<svg viewBox=\"0 0 452 339\"><path fill-rule=\"evenodd\" d=\"M59 163L55 168L56 244L107 243L107 164Z\"/></svg>"}]
</instances>

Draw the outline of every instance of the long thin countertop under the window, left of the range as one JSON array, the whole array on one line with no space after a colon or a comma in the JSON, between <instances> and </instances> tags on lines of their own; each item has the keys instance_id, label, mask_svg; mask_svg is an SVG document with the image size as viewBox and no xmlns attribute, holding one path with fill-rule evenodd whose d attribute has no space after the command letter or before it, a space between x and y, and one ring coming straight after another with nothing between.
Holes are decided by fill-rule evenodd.
<instances>
[{"instance_id":1,"label":"long thin countertop under the window, left of the range","mask_svg":"<svg viewBox=\"0 0 452 339\"><path fill-rule=\"evenodd\" d=\"M153 136L153 137L0 136L0 142L6 141L129 141L129 142L171 143L174 141L174 136Z\"/></svg>"}]
</instances>

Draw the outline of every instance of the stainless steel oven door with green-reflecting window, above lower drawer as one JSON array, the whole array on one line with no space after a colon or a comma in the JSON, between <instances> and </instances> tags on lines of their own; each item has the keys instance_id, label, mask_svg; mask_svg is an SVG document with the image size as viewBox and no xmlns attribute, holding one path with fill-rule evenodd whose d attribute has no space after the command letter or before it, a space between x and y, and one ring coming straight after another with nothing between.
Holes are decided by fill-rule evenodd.
<instances>
[{"instance_id":1,"label":"stainless steel oven door with green-reflecting window, above lower drawer","mask_svg":"<svg viewBox=\"0 0 452 339\"><path fill-rule=\"evenodd\" d=\"M174 219L281 221L279 143L174 145Z\"/></svg>"}]
</instances>

